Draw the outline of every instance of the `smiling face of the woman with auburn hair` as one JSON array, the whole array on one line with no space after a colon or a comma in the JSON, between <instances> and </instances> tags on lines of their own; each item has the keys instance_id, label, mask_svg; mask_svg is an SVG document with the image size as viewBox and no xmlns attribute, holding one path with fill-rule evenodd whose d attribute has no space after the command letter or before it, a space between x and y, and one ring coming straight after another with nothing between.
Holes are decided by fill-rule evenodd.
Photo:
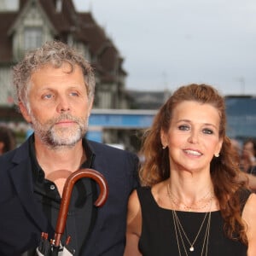
<instances>
[{"instance_id":1,"label":"smiling face of the woman with auburn hair","mask_svg":"<svg viewBox=\"0 0 256 256\"><path fill-rule=\"evenodd\" d=\"M214 154L219 154L222 138L218 109L210 104L186 101L172 111L169 131L161 131L161 142L169 148L172 170L210 170Z\"/></svg>"}]
</instances>

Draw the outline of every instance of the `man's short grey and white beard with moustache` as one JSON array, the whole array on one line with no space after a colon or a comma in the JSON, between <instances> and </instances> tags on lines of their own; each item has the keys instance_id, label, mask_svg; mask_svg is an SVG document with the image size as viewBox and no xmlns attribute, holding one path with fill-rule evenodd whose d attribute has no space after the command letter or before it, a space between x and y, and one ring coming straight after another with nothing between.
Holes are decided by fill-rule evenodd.
<instances>
[{"instance_id":1,"label":"man's short grey and white beard with moustache","mask_svg":"<svg viewBox=\"0 0 256 256\"><path fill-rule=\"evenodd\" d=\"M44 124L31 114L32 128L35 134L49 148L72 148L79 140L84 137L88 128L88 117L76 118L69 113L63 113L59 117L49 119ZM61 120L71 120L76 125L73 127L57 127L55 124Z\"/></svg>"}]
</instances>

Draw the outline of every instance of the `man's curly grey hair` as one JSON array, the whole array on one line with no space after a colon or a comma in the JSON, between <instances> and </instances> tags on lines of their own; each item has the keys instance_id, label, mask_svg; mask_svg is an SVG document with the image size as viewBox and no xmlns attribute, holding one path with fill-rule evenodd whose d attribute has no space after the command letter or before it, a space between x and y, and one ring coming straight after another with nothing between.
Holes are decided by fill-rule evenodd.
<instances>
[{"instance_id":1,"label":"man's curly grey hair","mask_svg":"<svg viewBox=\"0 0 256 256\"><path fill-rule=\"evenodd\" d=\"M95 75L93 68L84 56L80 55L72 47L60 41L46 42L41 48L33 49L26 53L24 59L13 67L13 81L15 85L15 103L22 102L26 108L29 107L28 91L32 73L44 65L61 67L63 63L69 63L71 72L75 65L82 68L84 74L84 85L90 101L93 100L95 92Z\"/></svg>"}]
</instances>

